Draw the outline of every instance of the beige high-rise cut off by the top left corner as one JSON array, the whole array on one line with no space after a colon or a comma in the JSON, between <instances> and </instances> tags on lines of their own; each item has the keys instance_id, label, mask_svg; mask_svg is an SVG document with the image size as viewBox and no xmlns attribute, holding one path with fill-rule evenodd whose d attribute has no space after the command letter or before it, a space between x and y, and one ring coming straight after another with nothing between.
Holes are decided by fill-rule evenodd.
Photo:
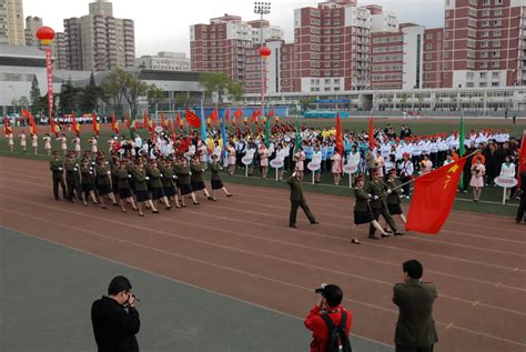
<instances>
[{"instance_id":1,"label":"beige high-rise cut off by the top left corner","mask_svg":"<svg viewBox=\"0 0 526 352\"><path fill-rule=\"evenodd\" d=\"M0 43L26 44L22 0L0 0Z\"/></svg>"}]
</instances>

